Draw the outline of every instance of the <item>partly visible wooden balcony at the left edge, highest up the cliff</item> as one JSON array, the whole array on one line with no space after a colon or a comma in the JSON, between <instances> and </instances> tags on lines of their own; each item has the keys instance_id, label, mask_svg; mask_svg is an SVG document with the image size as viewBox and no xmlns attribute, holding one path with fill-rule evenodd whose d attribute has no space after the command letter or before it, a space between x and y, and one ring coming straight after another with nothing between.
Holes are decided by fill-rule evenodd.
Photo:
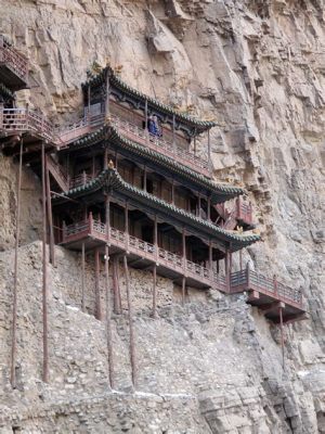
<instances>
[{"instance_id":1,"label":"partly visible wooden balcony at the left edge, highest up the cliff","mask_svg":"<svg viewBox=\"0 0 325 434\"><path fill-rule=\"evenodd\" d=\"M28 61L0 36L0 81L16 91L27 88Z\"/></svg>"}]
</instances>

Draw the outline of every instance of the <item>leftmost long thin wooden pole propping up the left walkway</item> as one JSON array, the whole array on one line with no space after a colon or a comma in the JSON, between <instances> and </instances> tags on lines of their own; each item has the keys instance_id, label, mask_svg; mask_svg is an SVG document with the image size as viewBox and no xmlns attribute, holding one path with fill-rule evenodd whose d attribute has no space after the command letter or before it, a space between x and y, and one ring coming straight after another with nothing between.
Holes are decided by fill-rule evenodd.
<instances>
[{"instance_id":1,"label":"leftmost long thin wooden pole propping up the left walkway","mask_svg":"<svg viewBox=\"0 0 325 434\"><path fill-rule=\"evenodd\" d=\"M11 344L11 367L10 382L13 388L16 387L16 346L17 346L17 281L18 281L18 246L21 233L21 190L23 168L23 139L21 139L20 167L17 181L17 207L16 207L16 230L15 230L15 258L14 258L14 283L13 283L13 308L12 308L12 344Z\"/></svg>"}]
</instances>

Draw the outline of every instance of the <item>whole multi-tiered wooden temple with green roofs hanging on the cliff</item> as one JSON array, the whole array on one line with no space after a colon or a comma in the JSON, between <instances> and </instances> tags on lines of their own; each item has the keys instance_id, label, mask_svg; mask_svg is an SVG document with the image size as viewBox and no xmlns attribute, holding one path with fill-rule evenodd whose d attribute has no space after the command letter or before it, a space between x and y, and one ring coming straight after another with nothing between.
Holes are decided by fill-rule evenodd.
<instances>
[{"instance_id":1,"label":"whole multi-tiered wooden temple with green roofs hanging on the cliff","mask_svg":"<svg viewBox=\"0 0 325 434\"><path fill-rule=\"evenodd\" d=\"M57 131L40 114L15 106L14 92L27 86L26 59L0 39L2 151L42 179L51 260L54 243L81 252L84 285L84 257L93 252L99 319L99 265L108 269L108 260L116 267L121 258L126 272L153 271L154 315L157 275L180 285L183 303L191 286L247 292L248 303L273 322L304 314L299 290L248 267L232 271L233 254L260 237L245 191L212 178L212 122L139 92L107 66L82 85L82 119Z\"/></svg>"}]
</instances>

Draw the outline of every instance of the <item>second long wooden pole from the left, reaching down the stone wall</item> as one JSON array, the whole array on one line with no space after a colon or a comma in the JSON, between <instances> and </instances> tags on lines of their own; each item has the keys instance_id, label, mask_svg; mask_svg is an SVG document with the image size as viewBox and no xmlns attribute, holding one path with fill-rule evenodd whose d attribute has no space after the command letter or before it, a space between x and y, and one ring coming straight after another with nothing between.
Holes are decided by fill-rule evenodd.
<instances>
[{"instance_id":1,"label":"second long wooden pole from the left, reaching down the stone wall","mask_svg":"<svg viewBox=\"0 0 325 434\"><path fill-rule=\"evenodd\" d=\"M47 182L46 145L41 146L42 164L42 320L43 320L43 382L49 382L49 343L48 343L48 265L47 265Z\"/></svg>"}]
</instances>

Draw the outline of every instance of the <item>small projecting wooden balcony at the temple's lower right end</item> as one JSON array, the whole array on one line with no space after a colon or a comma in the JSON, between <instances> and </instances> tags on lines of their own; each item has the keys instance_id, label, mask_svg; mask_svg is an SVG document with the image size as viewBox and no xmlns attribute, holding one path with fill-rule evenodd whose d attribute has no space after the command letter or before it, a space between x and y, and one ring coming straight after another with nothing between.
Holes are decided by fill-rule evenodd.
<instances>
[{"instance_id":1,"label":"small projecting wooden balcony at the temple's lower right end","mask_svg":"<svg viewBox=\"0 0 325 434\"><path fill-rule=\"evenodd\" d=\"M300 290L289 288L275 278L270 279L253 270L233 272L230 291L248 292L248 303L261 309L273 322L281 322L281 315L284 322L288 322L301 317L306 311Z\"/></svg>"}]
</instances>

